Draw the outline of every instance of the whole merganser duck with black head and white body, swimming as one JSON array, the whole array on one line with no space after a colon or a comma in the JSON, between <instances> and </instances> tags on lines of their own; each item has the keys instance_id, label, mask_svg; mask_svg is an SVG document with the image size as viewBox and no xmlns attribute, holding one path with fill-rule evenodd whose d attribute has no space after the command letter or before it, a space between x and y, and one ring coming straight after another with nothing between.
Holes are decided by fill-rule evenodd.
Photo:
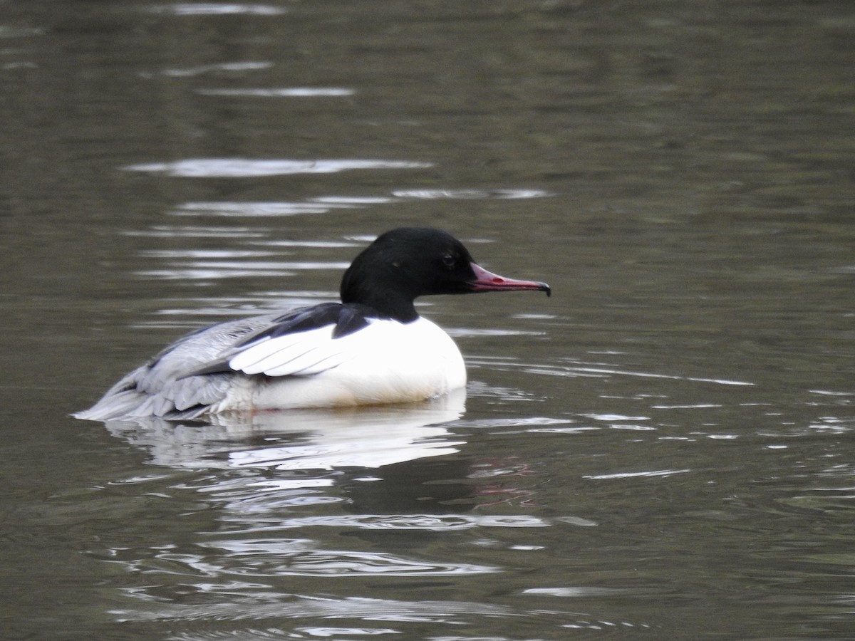
<instances>
[{"instance_id":1,"label":"whole merganser duck with black head and white body, swimming","mask_svg":"<svg viewBox=\"0 0 855 641\"><path fill-rule=\"evenodd\" d=\"M534 290L479 267L447 232L400 227L362 251L321 303L199 329L128 373L88 420L413 403L466 385L457 345L416 312L430 294Z\"/></svg>"}]
</instances>

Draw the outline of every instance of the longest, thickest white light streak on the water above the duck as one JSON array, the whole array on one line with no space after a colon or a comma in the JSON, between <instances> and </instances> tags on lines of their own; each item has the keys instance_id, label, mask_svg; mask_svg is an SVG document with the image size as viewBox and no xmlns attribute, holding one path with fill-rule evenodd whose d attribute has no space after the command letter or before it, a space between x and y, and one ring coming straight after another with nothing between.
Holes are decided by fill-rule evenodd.
<instances>
[{"instance_id":1,"label":"longest, thickest white light streak on the water above the duck","mask_svg":"<svg viewBox=\"0 0 855 641\"><path fill-rule=\"evenodd\" d=\"M127 165L127 171L163 173L177 178L251 178L293 173L337 173L352 169L424 169L429 162L388 160L260 160L253 158L188 158L175 162Z\"/></svg>"}]
</instances>

